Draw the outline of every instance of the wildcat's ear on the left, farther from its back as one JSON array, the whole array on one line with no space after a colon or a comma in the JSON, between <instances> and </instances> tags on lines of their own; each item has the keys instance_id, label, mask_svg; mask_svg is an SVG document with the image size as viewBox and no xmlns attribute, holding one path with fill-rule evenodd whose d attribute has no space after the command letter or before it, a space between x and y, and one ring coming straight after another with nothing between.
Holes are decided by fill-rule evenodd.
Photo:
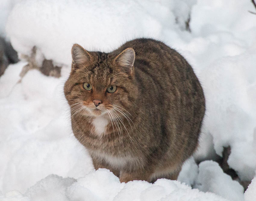
<instances>
[{"instance_id":1,"label":"wildcat's ear on the left, farther from its back","mask_svg":"<svg viewBox=\"0 0 256 201\"><path fill-rule=\"evenodd\" d=\"M82 46L74 44L71 49L73 63L89 63L92 56Z\"/></svg>"}]
</instances>

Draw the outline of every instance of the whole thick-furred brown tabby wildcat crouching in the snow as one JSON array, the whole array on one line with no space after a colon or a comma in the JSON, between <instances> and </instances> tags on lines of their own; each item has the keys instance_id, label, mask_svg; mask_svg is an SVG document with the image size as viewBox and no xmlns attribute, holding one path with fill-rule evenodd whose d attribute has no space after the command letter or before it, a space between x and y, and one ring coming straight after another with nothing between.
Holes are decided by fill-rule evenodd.
<instances>
[{"instance_id":1,"label":"whole thick-furred brown tabby wildcat crouching in the snow","mask_svg":"<svg viewBox=\"0 0 256 201\"><path fill-rule=\"evenodd\" d=\"M64 94L95 169L120 182L177 179L198 144L205 99L189 63L154 39L110 53L73 45Z\"/></svg>"}]
</instances>

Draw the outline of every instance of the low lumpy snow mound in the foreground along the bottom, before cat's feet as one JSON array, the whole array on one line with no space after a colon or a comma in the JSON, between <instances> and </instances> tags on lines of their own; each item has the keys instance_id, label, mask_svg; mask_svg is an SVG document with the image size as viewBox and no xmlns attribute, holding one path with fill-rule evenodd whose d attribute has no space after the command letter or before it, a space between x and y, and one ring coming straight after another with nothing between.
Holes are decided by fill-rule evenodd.
<instances>
[{"instance_id":1,"label":"low lumpy snow mound in the foreground along the bottom, before cat's feet","mask_svg":"<svg viewBox=\"0 0 256 201\"><path fill-rule=\"evenodd\" d=\"M213 193L200 192L198 189L181 184L178 181L158 179L154 184L146 181L130 181L120 183L119 179L107 169L89 172L85 177L62 178L49 175L30 187L23 195L18 191L10 191L0 200L218 200L227 199Z\"/></svg>"}]
</instances>

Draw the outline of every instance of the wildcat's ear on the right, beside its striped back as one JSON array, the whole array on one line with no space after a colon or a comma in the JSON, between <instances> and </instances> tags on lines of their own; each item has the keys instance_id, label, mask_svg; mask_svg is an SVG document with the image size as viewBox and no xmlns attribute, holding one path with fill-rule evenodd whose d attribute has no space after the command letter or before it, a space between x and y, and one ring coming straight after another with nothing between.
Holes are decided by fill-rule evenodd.
<instances>
[{"instance_id":1,"label":"wildcat's ear on the right, beside its striped back","mask_svg":"<svg viewBox=\"0 0 256 201\"><path fill-rule=\"evenodd\" d=\"M127 48L122 51L115 59L114 62L122 67L126 72L133 72L133 64L135 60L135 51L133 48Z\"/></svg>"}]
</instances>

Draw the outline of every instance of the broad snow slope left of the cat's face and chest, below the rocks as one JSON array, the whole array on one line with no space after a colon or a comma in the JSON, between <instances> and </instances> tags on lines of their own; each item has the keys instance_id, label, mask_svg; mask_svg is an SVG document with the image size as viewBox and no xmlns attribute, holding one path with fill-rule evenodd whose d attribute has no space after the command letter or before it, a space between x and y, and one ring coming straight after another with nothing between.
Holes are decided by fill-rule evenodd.
<instances>
[{"instance_id":1,"label":"broad snow slope left of the cat's face and chest, below the rocks","mask_svg":"<svg viewBox=\"0 0 256 201\"><path fill-rule=\"evenodd\" d=\"M72 133L64 80L30 70L17 82L10 67L6 76L14 87L0 99L0 189L23 193L50 174L78 178L91 171L92 161ZM0 88L7 88L2 79Z\"/></svg>"}]
</instances>

